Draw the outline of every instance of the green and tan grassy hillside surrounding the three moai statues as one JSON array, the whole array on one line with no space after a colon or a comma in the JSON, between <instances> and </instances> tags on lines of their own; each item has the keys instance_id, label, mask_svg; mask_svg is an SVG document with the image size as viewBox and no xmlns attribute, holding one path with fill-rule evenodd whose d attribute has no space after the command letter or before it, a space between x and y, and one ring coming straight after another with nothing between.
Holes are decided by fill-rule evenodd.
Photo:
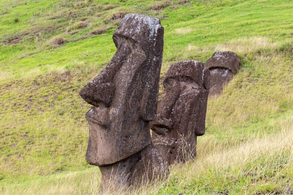
<instances>
[{"instance_id":1,"label":"green and tan grassy hillside surrounding the three moai statues","mask_svg":"<svg viewBox=\"0 0 293 195\"><path fill-rule=\"evenodd\" d=\"M0 0L0 194L98 193L100 172L84 157L90 105L78 92L115 53L127 13L161 19L162 78L172 63L205 63L218 50L242 60L209 97L197 160L135 193L290 193L292 10L289 0Z\"/></svg>"}]
</instances>

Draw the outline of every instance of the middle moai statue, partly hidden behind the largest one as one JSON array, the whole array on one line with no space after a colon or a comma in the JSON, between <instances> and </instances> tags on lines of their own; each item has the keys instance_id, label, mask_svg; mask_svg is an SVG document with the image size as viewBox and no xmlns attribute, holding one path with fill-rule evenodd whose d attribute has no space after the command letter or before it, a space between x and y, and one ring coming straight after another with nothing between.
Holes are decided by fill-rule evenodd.
<instances>
[{"instance_id":1,"label":"middle moai statue, partly hidden behind the largest one","mask_svg":"<svg viewBox=\"0 0 293 195\"><path fill-rule=\"evenodd\" d=\"M205 134L209 70L196 60L176 62L163 85L152 141L168 164L185 162L196 157L197 136Z\"/></svg>"}]
</instances>

